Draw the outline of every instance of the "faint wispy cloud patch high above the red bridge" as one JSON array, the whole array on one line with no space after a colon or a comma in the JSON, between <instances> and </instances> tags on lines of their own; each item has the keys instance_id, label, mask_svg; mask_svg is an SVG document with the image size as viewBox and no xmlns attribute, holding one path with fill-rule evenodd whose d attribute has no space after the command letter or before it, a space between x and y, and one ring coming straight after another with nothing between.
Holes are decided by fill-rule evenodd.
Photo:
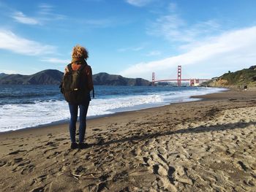
<instances>
[{"instance_id":1,"label":"faint wispy cloud patch high above the red bridge","mask_svg":"<svg viewBox=\"0 0 256 192\"><path fill-rule=\"evenodd\" d=\"M146 30L147 34L164 37L170 42L194 43L202 37L211 37L219 33L220 27L216 20L206 20L189 24L178 15L176 4L169 4L167 14L152 21Z\"/></svg>"}]
</instances>

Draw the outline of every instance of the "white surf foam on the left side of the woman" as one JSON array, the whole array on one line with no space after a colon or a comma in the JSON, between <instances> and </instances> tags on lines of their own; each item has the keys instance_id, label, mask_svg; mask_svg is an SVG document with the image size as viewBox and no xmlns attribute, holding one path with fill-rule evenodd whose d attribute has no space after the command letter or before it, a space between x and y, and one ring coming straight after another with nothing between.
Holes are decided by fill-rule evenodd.
<instances>
[{"instance_id":1,"label":"white surf foam on the left side of the woman","mask_svg":"<svg viewBox=\"0 0 256 192\"><path fill-rule=\"evenodd\" d=\"M0 106L0 131L39 126L67 118L69 110L65 101L6 104Z\"/></svg>"}]
</instances>

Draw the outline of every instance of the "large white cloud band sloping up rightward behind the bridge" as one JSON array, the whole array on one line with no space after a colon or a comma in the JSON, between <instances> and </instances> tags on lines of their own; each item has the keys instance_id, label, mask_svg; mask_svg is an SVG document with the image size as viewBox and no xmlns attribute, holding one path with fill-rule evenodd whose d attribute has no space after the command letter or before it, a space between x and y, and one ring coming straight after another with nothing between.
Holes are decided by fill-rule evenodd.
<instances>
[{"instance_id":1,"label":"large white cloud band sloping up rightward behind the bridge","mask_svg":"<svg viewBox=\"0 0 256 192\"><path fill-rule=\"evenodd\" d=\"M256 26L236 31L228 31L200 42L200 45L191 47L187 53L171 56L159 61L142 62L135 64L120 72L125 77L143 77L150 79L151 72L157 72L158 77L176 70L178 65L185 67L203 66L195 69L197 74L210 72L211 69L220 69L219 73L242 69L256 63ZM192 69L192 68L191 68Z\"/></svg>"}]
</instances>

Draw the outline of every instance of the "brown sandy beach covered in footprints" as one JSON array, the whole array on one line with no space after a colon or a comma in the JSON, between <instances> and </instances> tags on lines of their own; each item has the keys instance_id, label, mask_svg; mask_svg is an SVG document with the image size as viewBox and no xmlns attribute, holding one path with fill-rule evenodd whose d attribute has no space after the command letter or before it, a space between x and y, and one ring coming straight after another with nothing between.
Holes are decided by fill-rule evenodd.
<instances>
[{"instance_id":1,"label":"brown sandy beach covered in footprints","mask_svg":"<svg viewBox=\"0 0 256 192\"><path fill-rule=\"evenodd\" d=\"M256 191L256 91L0 134L0 191ZM98 145L103 141L102 145Z\"/></svg>"}]
</instances>

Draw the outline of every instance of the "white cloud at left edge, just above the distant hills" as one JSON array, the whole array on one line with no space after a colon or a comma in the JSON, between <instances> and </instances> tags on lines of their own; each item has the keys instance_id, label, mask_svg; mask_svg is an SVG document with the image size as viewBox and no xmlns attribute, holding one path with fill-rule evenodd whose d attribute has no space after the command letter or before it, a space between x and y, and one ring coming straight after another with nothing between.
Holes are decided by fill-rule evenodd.
<instances>
[{"instance_id":1,"label":"white cloud at left edge, just above the distant hills","mask_svg":"<svg viewBox=\"0 0 256 192\"><path fill-rule=\"evenodd\" d=\"M5 31L1 29L0 49L10 50L22 55L45 55L56 51L56 47L52 45L42 45L39 42L18 37L12 33L12 31Z\"/></svg>"}]
</instances>

